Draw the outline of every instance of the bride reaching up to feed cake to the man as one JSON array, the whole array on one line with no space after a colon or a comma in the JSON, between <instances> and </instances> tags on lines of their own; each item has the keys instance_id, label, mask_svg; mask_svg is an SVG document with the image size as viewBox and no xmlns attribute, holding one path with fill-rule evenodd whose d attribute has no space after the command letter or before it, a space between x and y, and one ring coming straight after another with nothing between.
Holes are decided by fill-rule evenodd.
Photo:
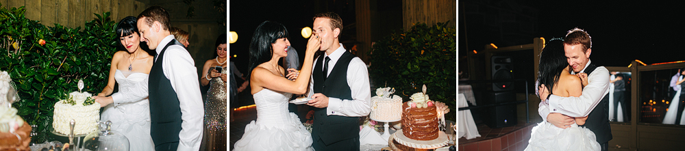
<instances>
[{"instance_id":1,"label":"bride reaching up to feed cake to the man","mask_svg":"<svg viewBox=\"0 0 685 151\"><path fill-rule=\"evenodd\" d=\"M288 100L292 94L307 92L314 53L320 45L318 37L309 39L302 77L297 77L297 72L285 74L278 60L288 55L288 30L269 20L257 27L250 43L251 74L247 78L258 118L245 126L245 134L234 144L234 150L314 150L312 135L295 113L288 112Z\"/></svg>"}]
</instances>

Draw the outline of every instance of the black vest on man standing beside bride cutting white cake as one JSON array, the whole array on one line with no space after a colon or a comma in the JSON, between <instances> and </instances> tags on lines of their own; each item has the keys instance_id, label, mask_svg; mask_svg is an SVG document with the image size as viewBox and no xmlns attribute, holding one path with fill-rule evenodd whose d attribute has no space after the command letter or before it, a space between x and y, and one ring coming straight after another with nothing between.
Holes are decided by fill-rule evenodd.
<instances>
[{"instance_id":1,"label":"black vest on man standing beside bride cutting white cake","mask_svg":"<svg viewBox=\"0 0 685 151\"><path fill-rule=\"evenodd\" d=\"M176 40L171 40L164 46L162 52L155 58L149 75L149 101L150 101L150 135L155 146L162 143L179 142L178 134L181 132L181 107L176 92L171 87L171 81L164 76L162 60L164 52L171 45L180 45Z\"/></svg>"}]
</instances>

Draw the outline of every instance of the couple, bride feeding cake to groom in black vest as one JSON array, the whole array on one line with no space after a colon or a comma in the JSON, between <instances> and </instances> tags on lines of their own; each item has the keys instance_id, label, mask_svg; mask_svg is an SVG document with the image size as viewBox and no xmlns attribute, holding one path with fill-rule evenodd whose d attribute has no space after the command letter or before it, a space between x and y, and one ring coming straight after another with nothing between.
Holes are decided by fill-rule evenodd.
<instances>
[{"instance_id":1,"label":"couple, bride feeding cake to groom in black vest","mask_svg":"<svg viewBox=\"0 0 685 151\"><path fill-rule=\"evenodd\" d=\"M264 21L250 44L249 79L257 120L245 126L234 150L359 150L358 117L369 115L371 87L364 62L339 42L343 20L327 12L314 16L302 70L286 70L278 59L288 53L288 30ZM314 53L323 53L314 59ZM292 94L308 94L314 107L309 133L288 112Z\"/></svg>"}]
</instances>

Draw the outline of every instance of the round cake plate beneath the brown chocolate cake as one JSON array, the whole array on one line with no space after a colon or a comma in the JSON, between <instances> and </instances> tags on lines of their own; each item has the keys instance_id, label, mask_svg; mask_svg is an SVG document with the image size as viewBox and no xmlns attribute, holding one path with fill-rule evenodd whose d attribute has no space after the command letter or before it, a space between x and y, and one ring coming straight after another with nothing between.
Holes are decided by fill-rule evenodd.
<instances>
[{"instance_id":1,"label":"round cake plate beneath the brown chocolate cake","mask_svg":"<svg viewBox=\"0 0 685 151\"><path fill-rule=\"evenodd\" d=\"M397 141L397 143L401 143L402 145L408 146L410 148L435 149L447 145L447 134L445 134L445 132L443 131L438 131L438 138L427 141L410 139L406 137L404 133L402 133L401 131L397 131L393 133L393 135L395 135L394 138L395 141Z\"/></svg>"}]
</instances>

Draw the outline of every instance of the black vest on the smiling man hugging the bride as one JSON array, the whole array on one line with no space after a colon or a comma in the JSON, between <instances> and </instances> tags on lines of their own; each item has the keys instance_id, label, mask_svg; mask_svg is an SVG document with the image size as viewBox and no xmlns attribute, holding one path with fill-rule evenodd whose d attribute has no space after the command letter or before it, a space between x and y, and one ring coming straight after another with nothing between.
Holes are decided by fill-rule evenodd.
<instances>
[{"instance_id":1,"label":"black vest on the smiling man hugging the bride","mask_svg":"<svg viewBox=\"0 0 685 151\"><path fill-rule=\"evenodd\" d=\"M596 68L597 66L595 66L595 64L590 64L588 68L585 69L585 73L590 76L590 73L595 71ZM597 142L600 145L602 143L608 143L613 139L611 135L611 126L609 125L609 95L605 95L599 101L597 107L590 112L584 126L597 135Z\"/></svg>"}]
</instances>

